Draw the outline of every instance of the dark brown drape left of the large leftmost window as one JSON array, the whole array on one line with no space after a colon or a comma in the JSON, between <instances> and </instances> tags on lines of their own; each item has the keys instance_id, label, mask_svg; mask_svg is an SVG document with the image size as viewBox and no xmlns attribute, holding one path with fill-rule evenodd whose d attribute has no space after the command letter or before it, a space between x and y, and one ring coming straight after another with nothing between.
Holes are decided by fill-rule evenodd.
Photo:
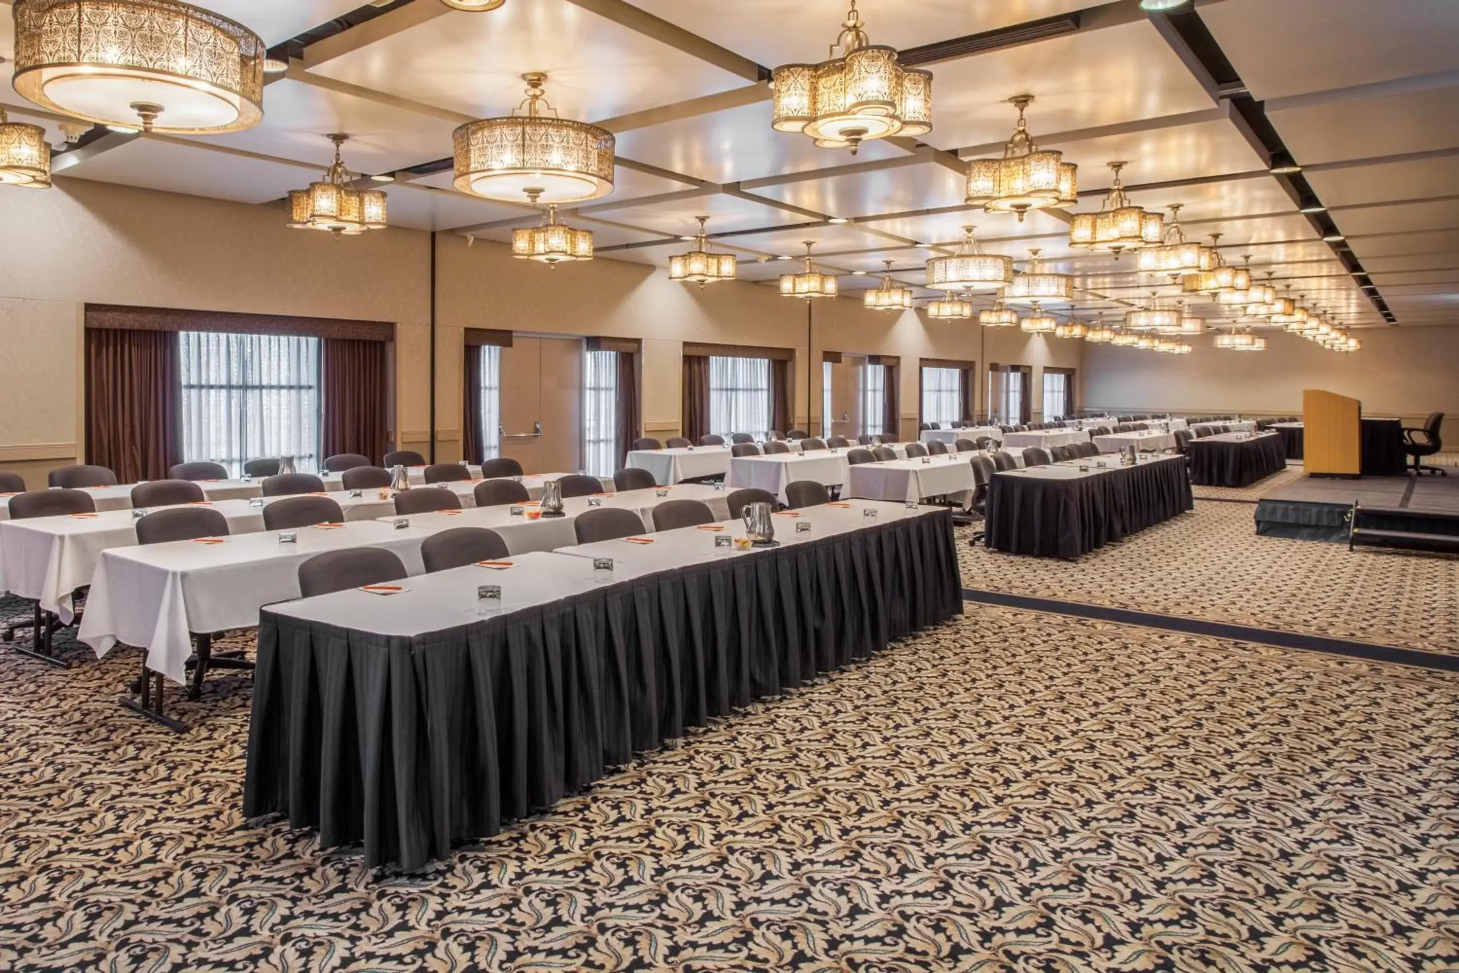
<instances>
[{"instance_id":1,"label":"dark brown drape left of the large leftmost window","mask_svg":"<svg viewBox=\"0 0 1459 973\"><path fill-rule=\"evenodd\" d=\"M181 401L177 331L86 331L86 462L165 480L182 461Z\"/></svg>"}]
</instances>

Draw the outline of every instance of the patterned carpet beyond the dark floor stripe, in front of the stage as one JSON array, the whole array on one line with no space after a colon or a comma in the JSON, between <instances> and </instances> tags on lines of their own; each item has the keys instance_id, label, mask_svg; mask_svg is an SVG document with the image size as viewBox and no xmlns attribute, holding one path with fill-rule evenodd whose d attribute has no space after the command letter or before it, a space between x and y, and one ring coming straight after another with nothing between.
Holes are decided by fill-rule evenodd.
<instances>
[{"instance_id":1,"label":"patterned carpet beyond the dark floor stripe, in front of the stage","mask_svg":"<svg viewBox=\"0 0 1459 973\"><path fill-rule=\"evenodd\" d=\"M1258 537L1255 515L1198 502L1077 562L960 543L963 586L1459 654L1459 557Z\"/></svg>"}]
</instances>

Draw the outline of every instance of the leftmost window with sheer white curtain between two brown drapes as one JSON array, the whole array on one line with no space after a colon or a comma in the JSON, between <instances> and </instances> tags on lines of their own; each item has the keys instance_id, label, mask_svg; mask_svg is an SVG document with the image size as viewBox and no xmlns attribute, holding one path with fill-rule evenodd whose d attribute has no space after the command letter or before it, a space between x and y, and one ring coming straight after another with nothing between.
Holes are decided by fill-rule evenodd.
<instances>
[{"instance_id":1,"label":"leftmost window with sheer white curtain between two brown drapes","mask_svg":"<svg viewBox=\"0 0 1459 973\"><path fill-rule=\"evenodd\" d=\"M320 464L320 340L283 334L178 334L182 460L241 476L249 460Z\"/></svg>"}]
</instances>

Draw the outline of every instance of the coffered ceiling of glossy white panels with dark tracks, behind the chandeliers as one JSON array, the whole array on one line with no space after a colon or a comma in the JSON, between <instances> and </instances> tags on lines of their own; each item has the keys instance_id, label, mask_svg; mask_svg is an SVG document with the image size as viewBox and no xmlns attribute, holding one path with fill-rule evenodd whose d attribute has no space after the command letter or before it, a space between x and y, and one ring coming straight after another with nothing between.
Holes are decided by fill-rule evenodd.
<instances>
[{"instance_id":1,"label":"coffered ceiling of glossy white panels with dark tracks, behind the chandeliers","mask_svg":"<svg viewBox=\"0 0 1459 973\"><path fill-rule=\"evenodd\" d=\"M935 127L855 156L773 131L765 80L776 64L823 58L845 0L508 0L492 13L360 3L198 3L289 42L289 71L249 131L63 133L15 95L9 64L0 102L58 147L80 137L57 156L58 179L260 206L314 178L333 156L325 136L346 131L350 168L395 174L392 225L505 241L537 214L455 193L451 131L509 112L519 76L546 71L563 117L619 139L614 191L565 212L594 230L600 258L667 267L709 216L746 280L773 284L811 242L849 293L891 260L897 280L932 296L922 264L978 225L988 249L1024 260L1039 248L1075 274L1081 314L1170 293L1131 257L1072 249L1065 214L1018 222L964 204L966 160L1001 155L1015 118L1007 99L1032 93L1030 130L1080 166L1077 212L1100 207L1106 163L1125 160L1135 203L1182 204L1188 236L1221 233L1228 263L1249 254L1258 279L1272 274L1342 324L1385 325L1385 306L1402 325L1452 322L1459 306L1453 0L1198 0L1179 16L1138 0L861 0L872 42L934 73ZM0 16L6 58L12 34ZM1304 166L1301 181L1269 174L1274 144ZM1325 223L1299 213L1306 191L1345 241L1323 242Z\"/></svg>"}]
</instances>

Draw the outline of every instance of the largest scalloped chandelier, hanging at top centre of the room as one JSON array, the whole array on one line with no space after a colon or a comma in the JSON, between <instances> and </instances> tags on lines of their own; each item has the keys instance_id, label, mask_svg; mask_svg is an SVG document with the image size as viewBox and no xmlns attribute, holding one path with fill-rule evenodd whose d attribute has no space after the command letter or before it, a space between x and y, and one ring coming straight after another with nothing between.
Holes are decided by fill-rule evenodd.
<instances>
[{"instance_id":1,"label":"largest scalloped chandelier, hanging at top centre of the room","mask_svg":"<svg viewBox=\"0 0 1459 973\"><path fill-rule=\"evenodd\" d=\"M821 149L852 155L871 139L932 131L932 73L897 64L896 50L871 44L864 26L851 0L827 60L775 69L776 131L798 131Z\"/></svg>"}]
</instances>

